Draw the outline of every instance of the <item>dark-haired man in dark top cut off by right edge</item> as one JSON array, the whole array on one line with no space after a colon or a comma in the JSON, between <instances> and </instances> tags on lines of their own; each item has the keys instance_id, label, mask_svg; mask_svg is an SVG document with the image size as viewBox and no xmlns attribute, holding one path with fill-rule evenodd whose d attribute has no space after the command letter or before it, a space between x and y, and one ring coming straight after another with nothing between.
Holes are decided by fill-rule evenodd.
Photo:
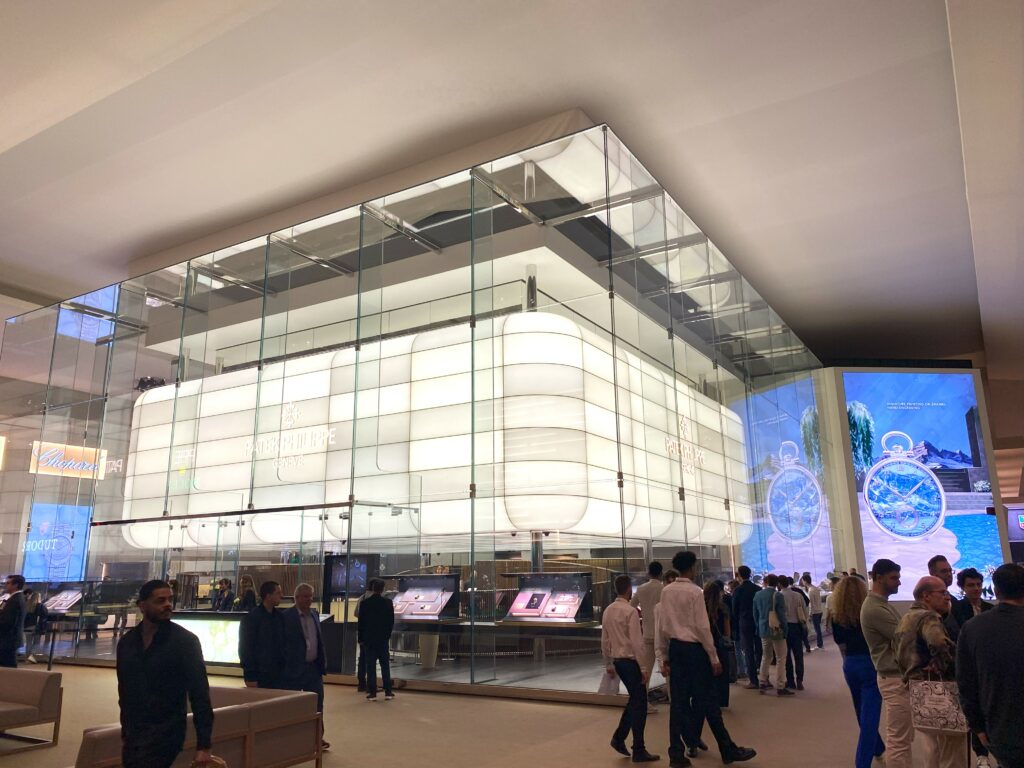
<instances>
[{"instance_id":1,"label":"dark-haired man in dark top cut off by right edge","mask_svg":"<svg viewBox=\"0 0 1024 768\"><path fill-rule=\"evenodd\" d=\"M1024 766L1024 567L1007 563L992 573L999 604L974 616L956 643L956 684L967 724L1008 768Z\"/></svg>"}]
</instances>

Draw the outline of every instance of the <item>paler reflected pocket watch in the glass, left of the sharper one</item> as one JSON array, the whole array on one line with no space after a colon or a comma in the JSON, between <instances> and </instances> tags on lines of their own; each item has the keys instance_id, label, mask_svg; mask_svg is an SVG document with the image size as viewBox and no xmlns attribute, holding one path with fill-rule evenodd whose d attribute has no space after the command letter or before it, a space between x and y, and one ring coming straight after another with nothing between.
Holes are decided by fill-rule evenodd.
<instances>
[{"instance_id":1,"label":"paler reflected pocket watch in the glass, left of the sharper one","mask_svg":"<svg viewBox=\"0 0 1024 768\"><path fill-rule=\"evenodd\" d=\"M821 523L823 497L818 478L800 464L800 449L785 440L778 449L780 467L768 485L768 519L775 532L799 544Z\"/></svg>"}]
</instances>

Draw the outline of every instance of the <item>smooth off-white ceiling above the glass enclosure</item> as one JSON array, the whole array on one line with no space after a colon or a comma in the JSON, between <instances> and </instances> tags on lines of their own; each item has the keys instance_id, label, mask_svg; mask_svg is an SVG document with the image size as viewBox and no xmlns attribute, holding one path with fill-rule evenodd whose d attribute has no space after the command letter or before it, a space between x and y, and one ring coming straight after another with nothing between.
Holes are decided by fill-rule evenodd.
<instances>
[{"instance_id":1,"label":"smooth off-white ceiling above the glass enclosure","mask_svg":"<svg viewBox=\"0 0 1024 768\"><path fill-rule=\"evenodd\" d=\"M1019 372L1024 6L950 2L4 3L0 293L81 293L579 106L819 355L984 332Z\"/></svg>"}]
</instances>

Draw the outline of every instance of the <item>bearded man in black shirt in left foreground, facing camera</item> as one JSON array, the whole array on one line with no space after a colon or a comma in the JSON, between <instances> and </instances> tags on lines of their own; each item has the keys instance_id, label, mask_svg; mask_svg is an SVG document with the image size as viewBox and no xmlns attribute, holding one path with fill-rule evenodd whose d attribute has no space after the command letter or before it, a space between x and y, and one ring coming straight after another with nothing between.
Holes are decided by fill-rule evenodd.
<instances>
[{"instance_id":1,"label":"bearded man in black shirt in left foreground, facing camera","mask_svg":"<svg viewBox=\"0 0 1024 768\"><path fill-rule=\"evenodd\" d=\"M171 588L138 593L142 623L118 643L118 703L124 768L168 768L185 740L186 698L196 728L195 762L210 762L213 708L199 638L172 623Z\"/></svg>"}]
</instances>

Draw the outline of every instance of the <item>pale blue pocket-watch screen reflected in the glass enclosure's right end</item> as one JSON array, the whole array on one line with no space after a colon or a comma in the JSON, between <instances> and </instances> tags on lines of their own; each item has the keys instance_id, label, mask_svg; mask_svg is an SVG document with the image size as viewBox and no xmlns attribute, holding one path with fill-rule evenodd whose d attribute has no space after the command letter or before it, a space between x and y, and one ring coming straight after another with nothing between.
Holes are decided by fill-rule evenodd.
<instances>
[{"instance_id":1,"label":"pale blue pocket-watch screen reflected in the glass enclosure's right end","mask_svg":"<svg viewBox=\"0 0 1024 768\"><path fill-rule=\"evenodd\" d=\"M755 514L741 559L755 573L836 567L814 383L807 376L746 399Z\"/></svg>"}]
</instances>

